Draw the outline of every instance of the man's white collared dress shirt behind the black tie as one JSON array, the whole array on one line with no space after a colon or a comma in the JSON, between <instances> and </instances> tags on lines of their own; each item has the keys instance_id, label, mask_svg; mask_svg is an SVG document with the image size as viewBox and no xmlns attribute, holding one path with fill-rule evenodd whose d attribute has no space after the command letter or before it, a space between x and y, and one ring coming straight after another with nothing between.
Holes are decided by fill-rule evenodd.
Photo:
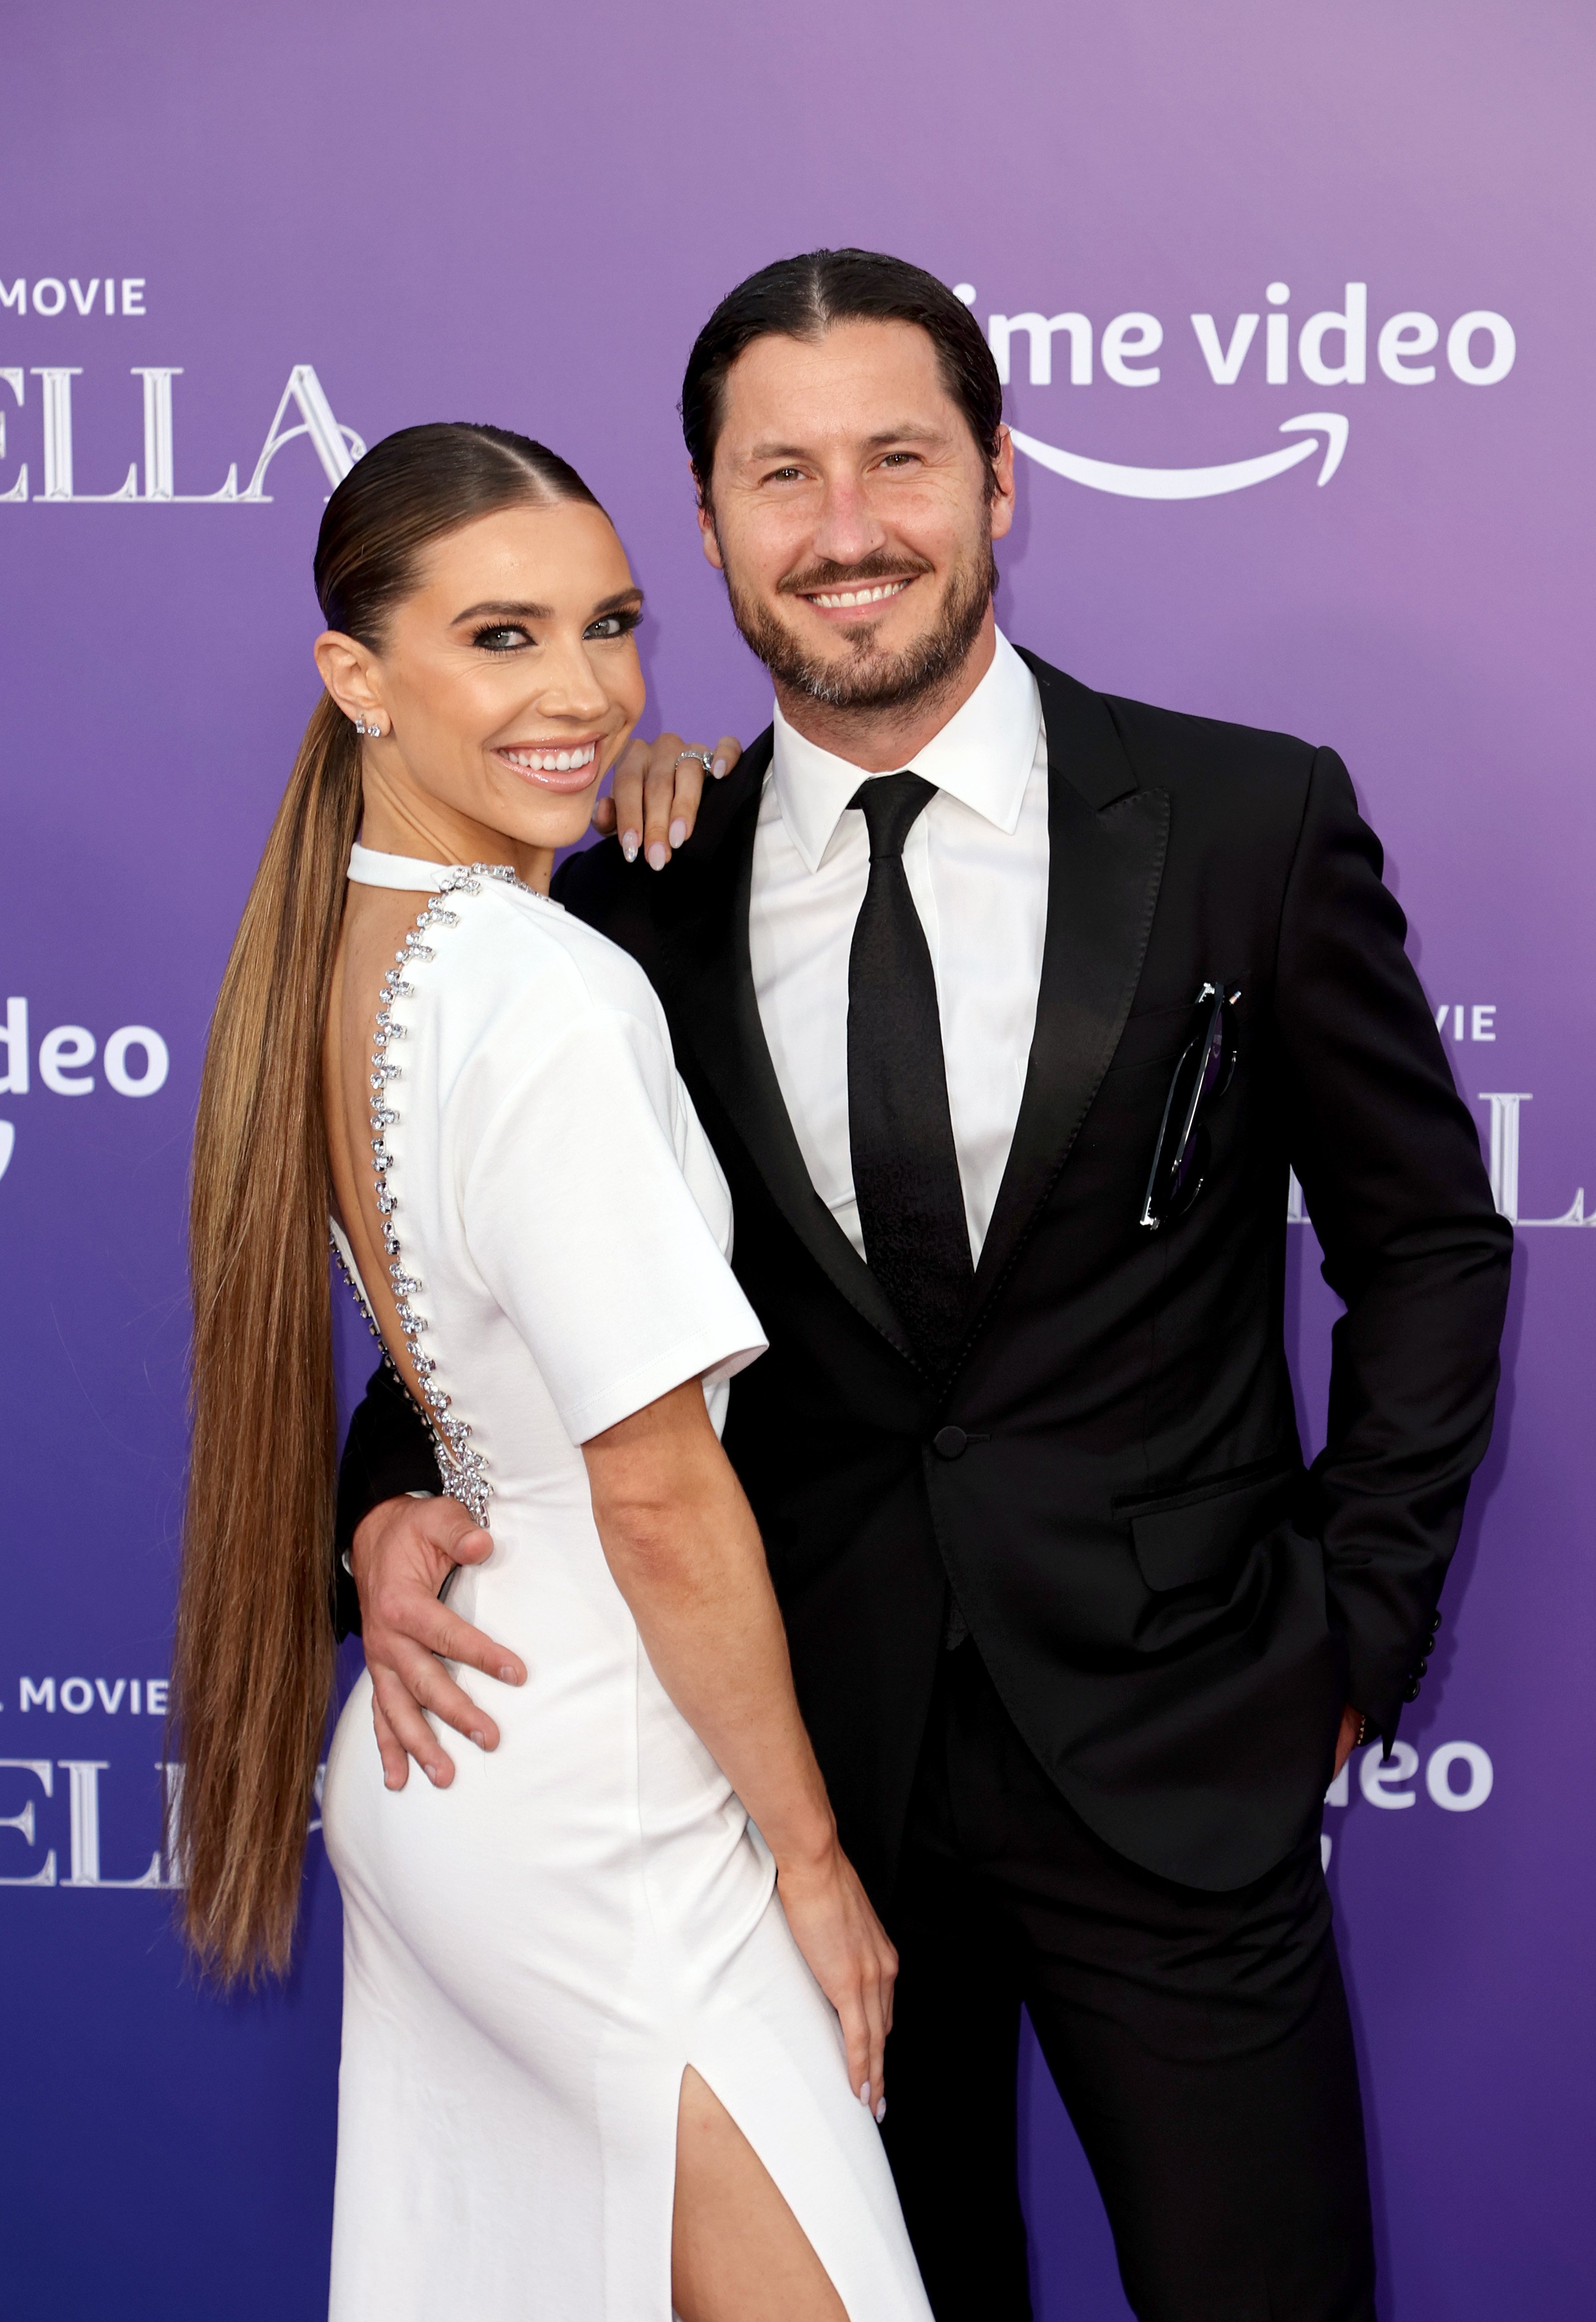
<instances>
[{"instance_id":1,"label":"man's white collared dress shirt behind the black tie","mask_svg":"<svg viewBox=\"0 0 1596 2322\"><path fill-rule=\"evenodd\" d=\"M1048 734L1036 678L999 632L985 678L908 759L936 783L904 873L936 971L971 1259L1020 1117L1048 926ZM899 771L899 769L894 769ZM848 1145L848 952L869 882L860 773L776 708L753 843L748 947L760 1024L811 1182L864 1256Z\"/></svg>"}]
</instances>

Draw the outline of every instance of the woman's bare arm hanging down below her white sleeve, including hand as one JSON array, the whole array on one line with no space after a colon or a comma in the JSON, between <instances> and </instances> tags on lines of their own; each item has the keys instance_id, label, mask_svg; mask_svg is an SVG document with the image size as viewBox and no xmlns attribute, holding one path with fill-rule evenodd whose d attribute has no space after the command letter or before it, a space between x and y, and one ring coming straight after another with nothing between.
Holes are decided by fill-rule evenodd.
<instances>
[{"instance_id":1,"label":"woman's bare arm hanging down below her white sleeve, including hand","mask_svg":"<svg viewBox=\"0 0 1596 2322\"><path fill-rule=\"evenodd\" d=\"M776 1858L788 1925L880 2118L897 1953L836 1841L753 1509L688 1379L583 1444L592 1514L653 1670Z\"/></svg>"}]
</instances>

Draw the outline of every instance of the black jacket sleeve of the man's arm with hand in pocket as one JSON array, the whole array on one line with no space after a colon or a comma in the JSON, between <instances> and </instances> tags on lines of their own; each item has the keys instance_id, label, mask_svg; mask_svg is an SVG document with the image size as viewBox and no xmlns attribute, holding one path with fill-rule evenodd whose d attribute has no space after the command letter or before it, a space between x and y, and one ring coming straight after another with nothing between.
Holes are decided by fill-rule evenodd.
<instances>
[{"instance_id":1,"label":"black jacket sleeve of the man's arm with hand in pocket","mask_svg":"<svg viewBox=\"0 0 1596 2322\"><path fill-rule=\"evenodd\" d=\"M1491 1440L1512 1228L1380 868L1345 766L1320 750L1280 922L1275 1029L1289 1159L1347 1307L1313 1468L1327 1591L1350 1700L1389 1744Z\"/></svg>"}]
</instances>

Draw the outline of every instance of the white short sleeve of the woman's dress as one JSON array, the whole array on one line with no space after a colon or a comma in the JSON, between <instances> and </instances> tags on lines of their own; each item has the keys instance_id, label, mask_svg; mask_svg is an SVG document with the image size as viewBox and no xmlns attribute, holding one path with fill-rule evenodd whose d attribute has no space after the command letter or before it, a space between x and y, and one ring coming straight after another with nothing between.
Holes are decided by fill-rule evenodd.
<instances>
[{"instance_id":1,"label":"white short sleeve of the woman's dress","mask_svg":"<svg viewBox=\"0 0 1596 2322\"><path fill-rule=\"evenodd\" d=\"M683 1177L664 1036L595 1008L495 1108L465 1231L574 1444L764 1351L760 1319Z\"/></svg>"}]
</instances>

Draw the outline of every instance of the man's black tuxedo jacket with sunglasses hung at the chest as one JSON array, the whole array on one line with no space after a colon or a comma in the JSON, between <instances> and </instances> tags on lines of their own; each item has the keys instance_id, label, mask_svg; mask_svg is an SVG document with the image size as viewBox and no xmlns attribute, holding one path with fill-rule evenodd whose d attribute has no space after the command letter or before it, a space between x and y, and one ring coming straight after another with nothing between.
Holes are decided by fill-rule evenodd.
<instances>
[{"instance_id":1,"label":"man's black tuxedo jacket with sunglasses hung at the chest","mask_svg":"<svg viewBox=\"0 0 1596 2322\"><path fill-rule=\"evenodd\" d=\"M1510 1231L1345 766L1027 662L1050 769L1041 994L948 1379L808 1182L760 1029L748 889L771 736L662 875L609 841L555 882L648 971L732 1184L771 1347L734 1384L725 1447L878 1899L948 1586L1110 1846L1199 1888L1266 1872L1317 1820L1343 1702L1396 1730L1498 1379ZM1203 980L1241 985L1236 1077L1201 1198L1150 1233ZM1345 1300L1313 1470L1282 1342L1287 1163ZM430 1479L418 1419L374 1382L344 1537Z\"/></svg>"}]
</instances>

